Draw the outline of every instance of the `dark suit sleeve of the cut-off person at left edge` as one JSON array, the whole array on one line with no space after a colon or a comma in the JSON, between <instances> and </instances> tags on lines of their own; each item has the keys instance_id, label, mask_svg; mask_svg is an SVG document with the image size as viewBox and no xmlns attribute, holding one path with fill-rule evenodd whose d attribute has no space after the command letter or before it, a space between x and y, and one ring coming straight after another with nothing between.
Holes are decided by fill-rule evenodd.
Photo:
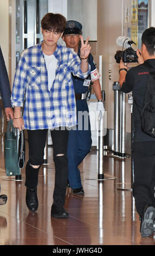
<instances>
[{"instance_id":1,"label":"dark suit sleeve of the cut-off person at left edge","mask_svg":"<svg viewBox=\"0 0 155 256\"><path fill-rule=\"evenodd\" d=\"M0 47L0 91L2 96L3 107L11 107L11 89L8 72L5 66L3 53Z\"/></svg>"}]
</instances>

